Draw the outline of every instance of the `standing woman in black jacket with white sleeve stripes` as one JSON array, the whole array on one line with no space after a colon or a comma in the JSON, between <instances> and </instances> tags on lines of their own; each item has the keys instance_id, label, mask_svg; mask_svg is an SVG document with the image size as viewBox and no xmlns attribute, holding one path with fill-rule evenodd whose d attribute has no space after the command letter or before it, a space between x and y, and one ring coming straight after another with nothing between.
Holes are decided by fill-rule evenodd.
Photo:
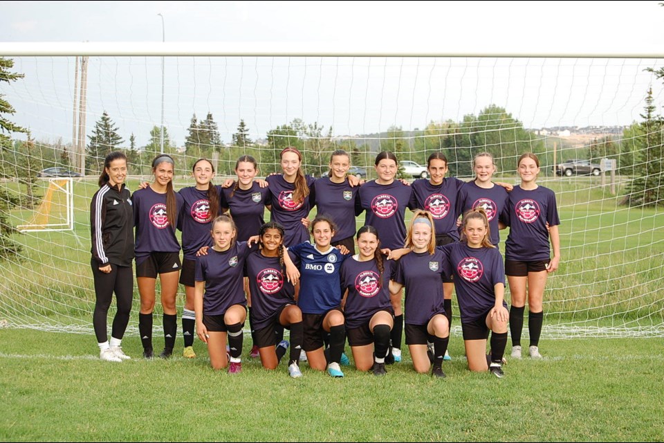
<instances>
[{"instance_id":1,"label":"standing woman in black jacket with white sleeve stripes","mask_svg":"<svg viewBox=\"0 0 664 443\"><path fill-rule=\"evenodd\" d=\"M92 274L95 280L95 311L93 326L100 350L100 359L122 361L129 356L122 352L122 336L129 323L133 298L133 210L127 178L127 156L111 152L104 159L99 177L99 190L90 204L92 239ZM107 335L109 307L116 293L118 311L113 318L111 342Z\"/></svg>"}]
</instances>

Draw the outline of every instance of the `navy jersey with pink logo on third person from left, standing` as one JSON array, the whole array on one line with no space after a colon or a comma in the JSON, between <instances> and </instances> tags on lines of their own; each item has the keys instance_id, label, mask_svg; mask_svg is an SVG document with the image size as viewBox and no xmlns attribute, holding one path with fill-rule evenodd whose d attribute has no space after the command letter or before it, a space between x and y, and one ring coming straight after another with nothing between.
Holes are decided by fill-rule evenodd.
<instances>
[{"instance_id":1,"label":"navy jersey with pink logo on third person from left, standing","mask_svg":"<svg viewBox=\"0 0 664 443\"><path fill-rule=\"evenodd\" d=\"M223 195L221 187L216 186L219 195L219 213L210 217L210 201L207 190L198 190L195 186L182 188L183 206L178 216L178 228L182 231L182 251L187 260L196 260L196 252L203 246L212 246L212 220L221 214Z\"/></svg>"}]
</instances>

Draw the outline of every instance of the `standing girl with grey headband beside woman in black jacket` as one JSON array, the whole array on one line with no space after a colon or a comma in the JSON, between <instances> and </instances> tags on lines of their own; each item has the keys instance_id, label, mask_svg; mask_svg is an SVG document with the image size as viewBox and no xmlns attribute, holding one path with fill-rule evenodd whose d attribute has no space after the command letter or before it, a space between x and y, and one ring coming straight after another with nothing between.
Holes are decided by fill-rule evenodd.
<instances>
[{"instance_id":1,"label":"standing girl with grey headband beside woman in black jacket","mask_svg":"<svg viewBox=\"0 0 664 443\"><path fill-rule=\"evenodd\" d=\"M159 355L167 359L173 353L177 333L175 296L180 275L180 244L175 236L178 213L183 205L181 195L173 190L175 162L166 154L152 161L154 181L145 189L137 190L133 201L136 224L136 280L140 294L138 331L143 345L143 356L151 359L152 311L156 298L157 275L161 280L163 307L164 350Z\"/></svg>"}]
</instances>

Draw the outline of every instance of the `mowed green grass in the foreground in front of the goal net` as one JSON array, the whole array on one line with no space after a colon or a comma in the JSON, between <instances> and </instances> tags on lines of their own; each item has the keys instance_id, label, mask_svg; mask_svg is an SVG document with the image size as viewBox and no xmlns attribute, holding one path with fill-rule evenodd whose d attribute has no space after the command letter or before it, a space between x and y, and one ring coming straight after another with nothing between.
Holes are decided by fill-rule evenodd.
<instances>
[{"instance_id":1,"label":"mowed green grass in the foreground in front of the goal net","mask_svg":"<svg viewBox=\"0 0 664 443\"><path fill-rule=\"evenodd\" d=\"M157 338L156 341L159 341ZM661 340L543 341L545 358L509 361L506 377L471 373L452 338L448 378L403 363L378 378L331 379L302 364L214 372L199 357L98 360L91 336L0 329L2 441L661 441ZM245 342L245 354L250 339Z\"/></svg>"}]
</instances>

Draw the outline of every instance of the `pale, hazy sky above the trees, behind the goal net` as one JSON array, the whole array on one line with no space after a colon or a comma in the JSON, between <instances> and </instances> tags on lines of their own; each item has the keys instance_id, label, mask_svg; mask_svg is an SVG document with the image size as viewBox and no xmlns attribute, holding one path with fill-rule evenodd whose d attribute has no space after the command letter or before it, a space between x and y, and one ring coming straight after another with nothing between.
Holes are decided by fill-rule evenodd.
<instances>
[{"instance_id":1,"label":"pale, hazy sky above the trees, behind the goal net","mask_svg":"<svg viewBox=\"0 0 664 443\"><path fill-rule=\"evenodd\" d=\"M162 18L158 13L163 15ZM208 111L224 141L246 120L253 138L301 118L335 135L461 120L495 103L526 127L628 125L643 112L658 67L657 1L4 2L0 53L17 42L251 43L288 51L437 51L485 57L167 57L165 126L183 144ZM205 45L203 44L205 42ZM216 43L212 43L216 42ZM266 46L268 46L266 44ZM498 54L547 57L492 57ZM606 55L631 55L609 59ZM558 58L551 55L569 55ZM599 55L582 58L580 55ZM648 57L649 56L649 57ZM71 141L73 57L12 56L26 78L1 84L14 120L37 137ZM160 57L90 57L87 133L107 111L125 138L159 125Z\"/></svg>"}]
</instances>

